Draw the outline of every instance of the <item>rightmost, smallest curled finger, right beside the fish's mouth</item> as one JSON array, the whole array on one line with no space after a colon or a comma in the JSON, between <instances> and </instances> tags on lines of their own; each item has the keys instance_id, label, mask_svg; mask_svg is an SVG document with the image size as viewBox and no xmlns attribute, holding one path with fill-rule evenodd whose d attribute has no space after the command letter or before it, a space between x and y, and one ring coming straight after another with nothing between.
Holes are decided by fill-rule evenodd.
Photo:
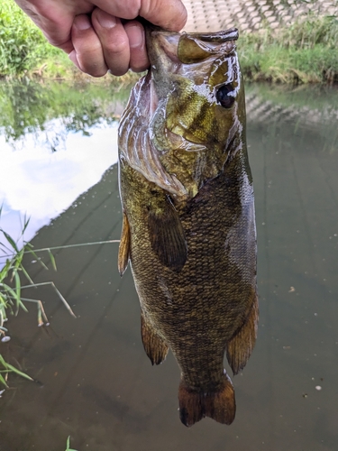
<instances>
[{"instance_id":1,"label":"rightmost, smallest curled finger, right beside the fish's mouth","mask_svg":"<svg viewBox=\"0 0 338 451\"><path fill-rule=\"evenodd\" d=\"M124 30L127 33L130 46L130 69L134 72L142 72L142 70L148 69L150 62L145 46L142 24L137 21L131 21L124 25Z\"/></svg>"}]
</instances>

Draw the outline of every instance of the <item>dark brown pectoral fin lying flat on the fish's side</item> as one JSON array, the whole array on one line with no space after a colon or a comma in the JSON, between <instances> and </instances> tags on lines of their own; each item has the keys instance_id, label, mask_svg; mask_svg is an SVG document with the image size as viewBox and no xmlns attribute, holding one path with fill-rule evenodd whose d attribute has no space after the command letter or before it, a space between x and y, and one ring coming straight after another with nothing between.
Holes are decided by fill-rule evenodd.
<instances>
[{"instance_id":1,"label":"dark brown pectoral fin lying flat on the fish's side","mask_svg":"<svg viewBox=\"0 0 338 451\"><path fill-rule=\"evenodd\" d=\"M150 207L148 226L151 247L160 262L180 272L187 260L187 243L178 212L168 197Z\"/></svg>"}]
</instances>

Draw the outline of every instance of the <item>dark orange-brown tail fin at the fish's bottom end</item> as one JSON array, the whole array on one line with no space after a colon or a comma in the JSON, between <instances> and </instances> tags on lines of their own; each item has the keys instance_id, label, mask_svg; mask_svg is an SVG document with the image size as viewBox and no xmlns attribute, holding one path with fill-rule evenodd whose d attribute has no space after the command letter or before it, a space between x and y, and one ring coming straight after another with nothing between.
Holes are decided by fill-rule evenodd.
<instances>
[{"instance_id":1,"label":"dark orange-brown tail fin at the fish's bottom end","mask_svg":"<svg viewBox=\"0 0 338 451\"><path fill-rule=\"evenodd\" d=\"M231 424L236 413L233 382L224 370L224 377L215 391L196 390L183 379L178 389L179 418L189 427L210 417L218 423Z\"/></svg>"}]
</instances>

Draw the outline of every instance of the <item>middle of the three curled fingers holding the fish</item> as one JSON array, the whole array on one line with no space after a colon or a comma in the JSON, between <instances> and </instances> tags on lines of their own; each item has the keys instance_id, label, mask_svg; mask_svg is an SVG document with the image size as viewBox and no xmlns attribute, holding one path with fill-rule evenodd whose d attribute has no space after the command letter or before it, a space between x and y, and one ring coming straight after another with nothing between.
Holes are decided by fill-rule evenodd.
<instances>
[{"instance_id":1,"label":"middle of the three curled fingers holding the fish","mask_svg":"<svg viewBox=\"0 0 338 451\"><path fill-rule=\"evenodd\" d=\"M120 19L96 8L92 23L101 41L105 64L113 75L120 76L129 69L130 50L127 33Z\"/></svg>"}]
</instances>

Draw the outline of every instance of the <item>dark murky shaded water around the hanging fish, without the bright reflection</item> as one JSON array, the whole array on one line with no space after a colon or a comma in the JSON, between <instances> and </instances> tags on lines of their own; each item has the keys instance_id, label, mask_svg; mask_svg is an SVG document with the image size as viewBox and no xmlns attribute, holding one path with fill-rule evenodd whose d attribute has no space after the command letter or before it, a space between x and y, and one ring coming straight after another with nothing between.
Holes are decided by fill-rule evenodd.
<instances>
[{"instance_id":1,"label":"dark murky shaded water around the hanging fish, without the bright reflection","mask_svg":"<svg viewBox=\"0 0 338 451\"><path fill-rule=\"evenodd\" d=\"M247 87L248 143L258 226L260 327L233 378L230 427L178 419L178 366L152 367L142 349L140 308L117 244L55 252L58 272L26 259L49 287L50 327L29 306L9 322L0 354L41 382L11 376L0 399L0 451L338 449L338 93ZM33 239L36 248L118 239L121 207L113 166ZM48 257L43 257L48 262ZM49 265L50 266L50 265Z\"/></svg>"}]
</instances>

